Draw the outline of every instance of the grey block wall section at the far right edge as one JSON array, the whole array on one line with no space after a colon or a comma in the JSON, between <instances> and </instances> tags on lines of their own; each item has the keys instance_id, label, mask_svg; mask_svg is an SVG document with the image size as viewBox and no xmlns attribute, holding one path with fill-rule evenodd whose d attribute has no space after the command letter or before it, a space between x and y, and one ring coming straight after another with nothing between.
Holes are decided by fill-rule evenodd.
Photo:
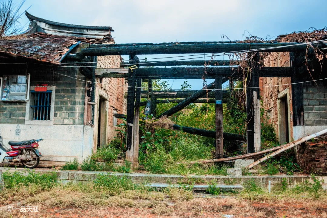
<instances>
[{"instance_id":1,"label":"grey block wall section at the far right edge","mask_svg":"<svg viewBox=\"0 0 327 218\"><path fill-rule=\"evenodd\" d=\"M318 87L317 87L318 85ZM303 83L303 110L305 126L327 125L327 83Z\"/></svg>"}]
</instances>

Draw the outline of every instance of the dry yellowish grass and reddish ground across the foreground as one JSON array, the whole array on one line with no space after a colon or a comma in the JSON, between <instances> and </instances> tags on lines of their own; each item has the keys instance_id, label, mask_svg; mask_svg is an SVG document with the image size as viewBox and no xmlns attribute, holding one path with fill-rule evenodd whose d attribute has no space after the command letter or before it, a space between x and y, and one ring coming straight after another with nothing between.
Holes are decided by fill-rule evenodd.
<instances>
[{"instance_id":1,"label":"dry yellowish grass and reddish ground across the foreground","mask_svg":"<svg viewBox=\"0 0 327 218\"><path fill-rule=\"evenodd\" d=\"M34 188L35 189L35 188ZM321 195L302 197L285 192L283 196L267 193L249 197L195 198L191 191L169 188L164 192L146 189L123 191L111 196L92 184L59 185L49 191L33 188L22 193L22 206L39 206L38 213L23 214L19 210L0 211L0 217L322 217L327 218L327 198ZM29 191L29 192L28 192ZM6 190L5 190L6 192ZM253 195L253 193L252 193ZM18 200L18 196L15 197ZM252 200L249 200L252 199ZM3 203L6 203L5 201ZM14 207L15 208L15 207ZM19 208L19 207L16 207Z\"/></svg>"}]
</instances>

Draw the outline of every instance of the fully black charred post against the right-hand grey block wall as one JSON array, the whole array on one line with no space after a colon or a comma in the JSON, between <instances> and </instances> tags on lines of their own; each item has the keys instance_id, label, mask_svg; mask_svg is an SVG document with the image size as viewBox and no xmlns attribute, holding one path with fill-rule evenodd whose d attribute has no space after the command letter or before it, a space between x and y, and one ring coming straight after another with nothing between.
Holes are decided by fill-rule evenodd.
<instances>
[{"instance_id":1,"label":"fully black charred post against the right-hand grey block wall","mask_svg":"<svg viewBox=\"0 0 327 218\"><path fill-rule=\"evenodd\" d=\"M290 52L290 66L292 69L291 87L292 87L292 109L293 109L293 126L303 126L303 87L300 76L297 74L297 67L295 53ZM293 84L298 83L298 84Z\"/></svg>"}]
</instances>

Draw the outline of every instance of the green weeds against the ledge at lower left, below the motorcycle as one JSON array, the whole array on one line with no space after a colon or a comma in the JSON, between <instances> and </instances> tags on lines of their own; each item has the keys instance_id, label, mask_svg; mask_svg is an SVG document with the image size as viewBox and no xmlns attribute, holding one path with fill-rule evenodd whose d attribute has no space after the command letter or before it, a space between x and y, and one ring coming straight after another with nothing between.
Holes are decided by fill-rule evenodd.
<instances>
[{"instance_id":1,"label":"green weeds against the ledge at lower left, below the motorcycle","mask_svg":"<svg viewBox=\"0 0 327 218\"><path fill-rule=\"evenodd\" d=\"M22 172L3 173L4 185L7 189L20 186L28 187L31 184L39 185L42 190L47 190L57 185L57 173L51 172L46 174L36 173L35 171L26 171L26 175Z\"/></svg>"}]
</instances>

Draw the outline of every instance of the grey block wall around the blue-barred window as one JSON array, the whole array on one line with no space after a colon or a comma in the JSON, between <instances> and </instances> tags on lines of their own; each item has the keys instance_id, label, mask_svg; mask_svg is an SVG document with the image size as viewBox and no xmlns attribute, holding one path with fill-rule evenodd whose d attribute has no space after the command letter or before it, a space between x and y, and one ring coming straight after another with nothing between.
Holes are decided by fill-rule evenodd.
<instances>
[{"instance_id":1,"label":"grey block wall around the blue-barred window","mask_svg":"<svg viewBox=\"0 0 327 218\"><path fill-rule=\"evenodd\" d=\"M85 81L81 80L86 78L80 74L77 67L48 67L42 64L29 64L27 72L31 74L31 86L41 84L56 86L54 124L83 125ZM15 74L25 73L25 68L15 69ZM26 102L0 101L0 123L2 124L25 124L25 112Z\"/></svg>"}]
</instances>

